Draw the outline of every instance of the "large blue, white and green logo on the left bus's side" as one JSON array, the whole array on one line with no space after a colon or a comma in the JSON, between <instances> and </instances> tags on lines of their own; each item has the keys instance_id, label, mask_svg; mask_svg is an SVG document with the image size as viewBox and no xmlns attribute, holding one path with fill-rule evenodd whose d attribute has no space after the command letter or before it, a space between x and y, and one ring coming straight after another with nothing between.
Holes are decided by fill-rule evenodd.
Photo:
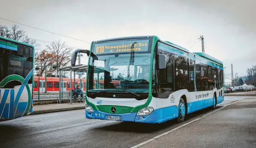
<instances>
[{"instance_id":1,"label":"large blue, white and green logo on the left bus's side","mask_svg":"<svg viewBox=\"0 0 256 148\"><path fill-rule=\"evenodd\" d=\"M0 120L27 115L31 105L31 90L27 82L33 72L34 69L30 71L26 78L20 75L9 75L0 82ZM14 88L1 88L10 81L20 81L21 85L14 86ZM22 97L24 88L27 90L26 97ZM20 98L22 98L21 101Z\"/></svg>"}]
</instances>

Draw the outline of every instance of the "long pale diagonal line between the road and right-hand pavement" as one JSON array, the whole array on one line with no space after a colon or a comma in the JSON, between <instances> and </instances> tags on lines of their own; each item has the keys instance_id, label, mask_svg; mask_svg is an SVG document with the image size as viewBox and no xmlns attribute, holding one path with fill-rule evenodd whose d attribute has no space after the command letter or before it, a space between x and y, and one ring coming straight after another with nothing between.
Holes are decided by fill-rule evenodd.
<instances>
[{"instance_id":1,"label":"long pale diagonal line between the road and right-hand pavement","mask_svg":"<svg viewBox=\"0 0 256 148\"><path fill-rule=\"evenodd\" d=\"M138 145L135 145L135 146L133 146L133 147L131 147L131 148L139 148L139 147L141 147L142 145L145 145L145 144L147 144L147 143L149 143L149 142L151 142L151 141L154 141L154 140L156 140L156 139L158 139L158 138L160 138L160 137L162 137L162 136L165 136L165 135L167 135L168 133L172 133L173 131L176 131L176 130L178 130L179 128L182 128L182 127L184 127L184 126L186 126L186 125L189 125L190 123L193 123L193 122L195 122L195 121L197 121L197 120L200 120L200 119L202 119L202 118L204 118L204 117L206 117L206 116L208 116L208 115L211 115L212 113L215 113L215 112L217 112L217 111L219 111L219 110L221 110L221 109L223 109L223 108L225 108L225 107L227 107L227 106L229 106L229 105L231 105L231 104L234 104L234 103L236 103L236 102L239 102L239 101L241 101L241 100L243 100L243 99L240 99L240 100L235 101L235 102L233 102L233 103L227 104L227 105L225 105L225 106L223 106L223 107L221 107L221 108L219 108L219 109L217 109L217 110L212 111L211 113L208 113L208 114L206 114L206 115L204 115L204 116L202 116L202 117L199 117L199 118L194 119L194 120L192 120L192 121L190 121L190 122L187 122L187 123L185 123L185 124L183 124L183 125L181 125L181 126L178 126L177 128L174 128L174 129L172 129L172 130L170 130L170 131L167 131L167 132L162 133L162 134L160 134L160 135L158 135L158 136L155 136L154 138L151 138L151 139L149 139L149 140L147 140L147 141L145 141L145 142L142 142L142 143L140 143L140 144L138 144Z\"/></svg>"}]
</instances>

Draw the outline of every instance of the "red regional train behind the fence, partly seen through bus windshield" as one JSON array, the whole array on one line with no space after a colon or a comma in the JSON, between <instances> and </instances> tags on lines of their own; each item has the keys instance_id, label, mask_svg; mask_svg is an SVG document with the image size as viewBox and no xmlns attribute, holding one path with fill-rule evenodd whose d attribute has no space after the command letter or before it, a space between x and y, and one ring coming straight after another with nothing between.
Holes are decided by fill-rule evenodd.
<instances>
[{"instance_id":1,"label":"red regional train behind the fence, partly seen through bus windshield","mask_svg":"<svg viewBox=\"0 0 256 148\"><path fill-rule=\"evenodd\" d=\"M69 92L70 91L70 79L69 78L61 78L63 84L62 84L62 89L63 92ZM74 79L72 79L72 90L74 90ZM75 79L75 87L77 85L79 85L81 87L82 90L85 91L85 85L86 85L86 80L85 79L81 79L81 84L80 84L80 79L76 78ZM118 85L120 84L120 81L117 80L112 80L112 83L114 85ZM46 77L46 91L47 93L57 93L60 91L60 87L59 87L60 83L59 83L59 78L55 78L55 77ZM94 80L94 87L96 86L96 80ZM104 87L104 80L99 80L99 86L100 89L103 89ZM34 93L38 93L38 90L40 88L40 93L44 93L45 92L45 77L34 77L34 89L33 92Z\"/></svg>"}]
</instances>

